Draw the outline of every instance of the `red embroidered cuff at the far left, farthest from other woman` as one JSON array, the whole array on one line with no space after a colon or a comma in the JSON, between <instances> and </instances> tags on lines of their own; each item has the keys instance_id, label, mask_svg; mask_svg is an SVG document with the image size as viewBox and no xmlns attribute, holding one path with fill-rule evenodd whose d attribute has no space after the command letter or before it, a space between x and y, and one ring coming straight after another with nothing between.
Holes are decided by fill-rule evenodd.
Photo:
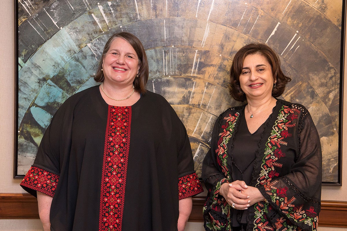
<instances>
[{"instance_id":1,"label":"red embroidered cuff at the far left, farthest from other woman","mask_svg":"<svg viewBox=\"0 0 347 231\"><path fill-rule=\"evenodd\" d=\"M20 185L34 189L49 196L54 196L58 180L58 175L33 166L29 169Z\"/></svg>"}]
</instances>

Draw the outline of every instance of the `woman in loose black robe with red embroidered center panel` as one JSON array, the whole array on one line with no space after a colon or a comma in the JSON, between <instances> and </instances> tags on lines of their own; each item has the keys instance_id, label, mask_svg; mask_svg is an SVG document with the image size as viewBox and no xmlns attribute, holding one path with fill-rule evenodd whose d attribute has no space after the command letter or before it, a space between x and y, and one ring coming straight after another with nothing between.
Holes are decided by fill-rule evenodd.
<instances>
[{"instance_id":1,"label":"woman in loose black robe with red embroidered center panel","mask_svg":"<svg viewBox=\"0 0 347 231\"><path fill-rule=\"evenodd\" d=\"M202 192L184 125L145 90L137 37L110 37L96 82L68 98L21 186L37 195L44 230L184 230Z\"/></svg>"}]
</instances>

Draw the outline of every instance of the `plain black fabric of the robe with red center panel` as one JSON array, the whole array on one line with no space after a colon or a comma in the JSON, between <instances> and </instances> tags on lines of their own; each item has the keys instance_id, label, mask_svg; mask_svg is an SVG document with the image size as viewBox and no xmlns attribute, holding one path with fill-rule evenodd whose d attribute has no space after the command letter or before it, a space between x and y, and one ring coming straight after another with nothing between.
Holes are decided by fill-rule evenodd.
<instances>
[{"instance_id":1,"label":"plain black fabric of the robe with red center panel","mask_svg":"<svg viewBox=\"0 0 347 231\"><path fill-rule=\"evenodd\" d=\"M60 176L50 212L54 231L99 230L108 107L99 86L81 91L59 108L43 136L33 166ZM195 172L185 127L150 91L131 108L122 230L177 230L178 178Z\"/></svg>"}]
</instances>

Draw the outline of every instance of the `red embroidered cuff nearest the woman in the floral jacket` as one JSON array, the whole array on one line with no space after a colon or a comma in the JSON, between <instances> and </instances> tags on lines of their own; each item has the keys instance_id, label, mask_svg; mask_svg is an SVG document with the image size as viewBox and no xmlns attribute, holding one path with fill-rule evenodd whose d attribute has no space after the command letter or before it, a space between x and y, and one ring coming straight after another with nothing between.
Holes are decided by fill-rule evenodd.
<instances>
[{"instance_id":1,"label":"red embroidered cuff nearest the woman in the floral jacket","mask_svg":"<svg viewBox=\"0 0 347 231\"><path fill-rule=\"evenodd\" d=\"M178 199L195 196L204 192L200 180L195 173L178 178Z\"/></svg>"}]
</instances>

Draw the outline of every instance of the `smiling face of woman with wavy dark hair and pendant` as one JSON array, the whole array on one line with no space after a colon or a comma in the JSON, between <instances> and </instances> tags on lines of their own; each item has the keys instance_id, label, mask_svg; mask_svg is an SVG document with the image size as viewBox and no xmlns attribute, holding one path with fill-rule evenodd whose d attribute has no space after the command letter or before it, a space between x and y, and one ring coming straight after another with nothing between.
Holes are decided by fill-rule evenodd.
<instances>
[{"instance_id":1,"label":"smiling face of woman with wavy dark hair and pendant","mask_svg":"<svg viewBox=\"0 0 347 231\"><path fill-rule=\"evenodd\" d=\"M239 81L247 99L271 96L274 78L270 63L261 54L247 55Z\"/></svg>"}]
</instances>

